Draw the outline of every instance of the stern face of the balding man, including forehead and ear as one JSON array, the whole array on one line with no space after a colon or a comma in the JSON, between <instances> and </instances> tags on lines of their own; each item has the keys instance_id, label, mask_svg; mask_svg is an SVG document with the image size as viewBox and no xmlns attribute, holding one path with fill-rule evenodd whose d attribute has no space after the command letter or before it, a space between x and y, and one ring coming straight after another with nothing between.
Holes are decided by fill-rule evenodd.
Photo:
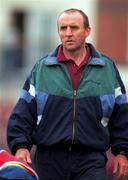
<instances>
[{"instance_id":1,"label":"stern face of the balding man, including forehead and ear","mask_svg":"<svg viewBox=\"0 0 128 180\"><path fill-rule=\"evenodd\" d=\"M85 46L90 28L84 26L83 17L79 12L63 13L58 19L58 33L63 48L76 51Z\"/></svg>"}]
</instances>

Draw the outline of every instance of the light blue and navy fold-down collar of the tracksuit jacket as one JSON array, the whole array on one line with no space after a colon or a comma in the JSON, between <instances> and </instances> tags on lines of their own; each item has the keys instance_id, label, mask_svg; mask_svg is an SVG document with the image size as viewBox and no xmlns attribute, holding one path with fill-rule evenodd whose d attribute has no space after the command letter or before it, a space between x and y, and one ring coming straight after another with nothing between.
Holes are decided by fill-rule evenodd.
<instances>
[{"instance_id":1,"label":"light blue and navy fold-down collar of the tracksuit jacket","mask_svg":"<svg viewBox=\"0 0 128 180\"><path fill-rule=\"evenodd\" d=\"M91 50L91 57L90 57L90 60L88 61L88 65L104 66L105 62L103 60L101 53L98 52L92 44L87 43L87 45L89 46L89 48ZM60 64L57 60L58 47L45 58L44 63L46 65L59 65Z\"/></svg>"}]
</instances>

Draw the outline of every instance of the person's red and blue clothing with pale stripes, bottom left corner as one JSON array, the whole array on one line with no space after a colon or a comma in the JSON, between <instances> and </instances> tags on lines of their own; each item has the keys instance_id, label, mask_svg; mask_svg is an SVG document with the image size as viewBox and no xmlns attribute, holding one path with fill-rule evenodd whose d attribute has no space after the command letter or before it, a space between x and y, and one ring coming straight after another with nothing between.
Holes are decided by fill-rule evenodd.
<instances>
[{"instance_id":1,"label":"person's red and blue clothing with pale stripes, bottom left corner","mask_svg":"<svg viewBox=\"0 0 128 180\"><path fill-rule=\"evenodd\" d=\"M0 179L38 180L38 176L28 164L0 148Z\"/></svg>"}]
</instances>

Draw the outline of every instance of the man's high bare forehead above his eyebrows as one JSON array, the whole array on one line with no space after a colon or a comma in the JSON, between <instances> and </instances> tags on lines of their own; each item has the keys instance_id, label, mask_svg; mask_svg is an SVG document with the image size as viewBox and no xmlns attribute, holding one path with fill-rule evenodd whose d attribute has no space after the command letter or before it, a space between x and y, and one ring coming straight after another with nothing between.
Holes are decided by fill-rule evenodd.
<instances>
[{"instance_id":1,"label":"man's high bare forehead above his eyebrows","mask_svg":"<svg viewBox=\"0 0 128 180\"><path fill-rule=\"evenodd\" d=\"M58 25L78 24L83 25L83 16L79 12L64 12L58 18Z\"/></svg>"}]
</instances>

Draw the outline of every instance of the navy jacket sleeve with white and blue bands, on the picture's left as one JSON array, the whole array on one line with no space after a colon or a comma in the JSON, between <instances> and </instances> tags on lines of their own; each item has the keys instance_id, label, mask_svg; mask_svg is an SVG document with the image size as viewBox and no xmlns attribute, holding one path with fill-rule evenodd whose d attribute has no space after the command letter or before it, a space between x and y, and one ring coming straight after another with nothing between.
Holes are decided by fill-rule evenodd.
<instances>
[{"instance_id":1,"label":"navy jacket sleeve with white and blue bands, on the picture's left","mask_svg":"<svg viewBox=\"0 0 128 180\"><path fill-rule=\"evenodd\" d=\"M37 121L35 87L31 81L33 74L34 68L24 83L20 98L8 121L7 141L12 154L20 147L28 150L32 147L32 133Z\"/></svg>"}]
</instances>

